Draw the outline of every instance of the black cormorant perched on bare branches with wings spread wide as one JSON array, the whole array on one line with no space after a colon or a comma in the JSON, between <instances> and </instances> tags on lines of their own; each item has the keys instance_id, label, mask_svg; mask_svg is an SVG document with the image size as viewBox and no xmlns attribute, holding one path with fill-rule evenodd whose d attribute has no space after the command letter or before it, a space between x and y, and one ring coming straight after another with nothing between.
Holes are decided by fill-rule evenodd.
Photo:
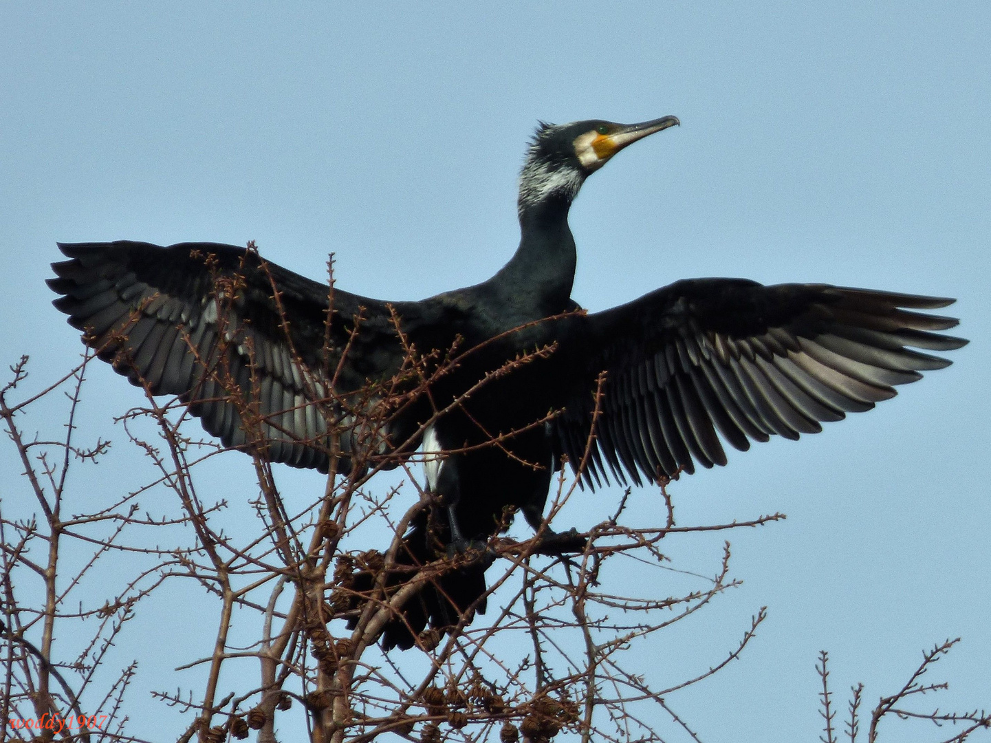
<instances>
[{"instance_id":1,"label":"black cormorant perched on bare branches with wings spread wide","mask_svg":"<svg viewBox=\"0 0 991 743\"><path fill-rule=\"evenodd\" d=\"M242 423L244 404L208 371L222 364L266 422L264 455L320 471L330 464L328 423L313 401L333 379L338 395L355 395L354 405L374 402L358 391L393 377L407 357L394 318L420 353L443 357L456 347L457 366L432 381L429 396L398 409L377 439L383 452L409 452L421 441L428 452L457 452L428 466L446 507L441 539L453 550L488 540L507 507L539 525L553 471L563 456L577 467L593 433L601 372L605 395L582 472L590 485L606 470L641 484L725 464L722 441L745 450L750 439L819 432L820 422L869 410L893 397L893 386L949 364L908 348L946 351L966 342L936 332L955 319L916 311L946 307L948 299L690 279L611 310L579 311L571 299L573 199L616 152L678 123L667 116L541 124L520 174L515 254L492 279L420 302L386 304L335 287L328 323L325 284L263 264L257 252L212 243L62 244L69 260L53 264L49 286L61 295L55 307L86 331L101 358L154 394L179 396L224 445L258 451ZM228 287L221 297L218 279ZM492 375L521 354L532 358ZM350 420L343 409L339 415ZM362 434L339 441L342 470ZM426 525L423 517L406 536L407 563L436 557ZM439 591L428 586L386 629L385 647L409 647L428 622L448 626L452 609L484 593L484 570L483 560L449 573Z\"/></svg>"}]
</instances>

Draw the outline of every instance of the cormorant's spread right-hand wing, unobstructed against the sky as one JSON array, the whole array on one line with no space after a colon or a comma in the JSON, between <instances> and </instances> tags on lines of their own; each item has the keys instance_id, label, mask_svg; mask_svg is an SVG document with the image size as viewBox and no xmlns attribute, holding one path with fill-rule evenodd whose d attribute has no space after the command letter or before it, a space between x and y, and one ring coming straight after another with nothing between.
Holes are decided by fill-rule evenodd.
<instances>
[{"instance_id":1,"label":"cormorant's spread right-hand wing, unobstructed against the sky","mask_svg":"<svg viewBox=\"0 0 991 743\"><path fill-rule=\"evenodd\" d=\"M604 396L586 481L608 468L637 484L679 470L725 464L722 440L798 438L821 422L866 411L895 385L949 361L967 341L940 334L957 324L936 310L953 300L819 284L765 287L740 279L681 281L635 302L590 314L569 353L584 366L555 423L573 467L592 433L598 374ZM911 348L910 348L911 346ZM913 350L923 349L923 351ZM567 350L567 349L565 349ZM571 363L576 363L572 361ZM720 440L721 436L721 440Z\"/></svg>"}]
</instances>

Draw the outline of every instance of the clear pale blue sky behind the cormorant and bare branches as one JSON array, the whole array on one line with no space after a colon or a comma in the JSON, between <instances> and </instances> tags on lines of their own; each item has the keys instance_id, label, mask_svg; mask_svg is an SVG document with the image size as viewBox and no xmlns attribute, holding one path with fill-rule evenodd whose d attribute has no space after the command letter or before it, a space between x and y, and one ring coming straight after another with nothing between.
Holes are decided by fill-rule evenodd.
<instances>
[{"instance_id":1,"label":"clear pale blue sky behind the cormorant and bare branches","mask_svg":"<svg viewBox=\"0 0 991 743\"><path fill-rule=\"evenodd\" d=\"M820 649L876 700L962 636L932 703L991 706L987 4L4 3L0 28L0 364L30 353L39 385L79 349L44 286L56 240L256 240L313 277L332 251L342 288L426 297L511 255L537 119L682 121L572 209L590 310L694 276L958 298L949 369L674 486L684 524L789 518L732 535L744 585L638 652L662 684L705 670L769 606L671 699L709 743L815 739ZM141 401L108 368L86 394L93 431ZM594 522L617 496L586 497ZM710 573L720 542L669 549ZM913 729L889 739L934 732Z\"/></svg>"}]
</instances>

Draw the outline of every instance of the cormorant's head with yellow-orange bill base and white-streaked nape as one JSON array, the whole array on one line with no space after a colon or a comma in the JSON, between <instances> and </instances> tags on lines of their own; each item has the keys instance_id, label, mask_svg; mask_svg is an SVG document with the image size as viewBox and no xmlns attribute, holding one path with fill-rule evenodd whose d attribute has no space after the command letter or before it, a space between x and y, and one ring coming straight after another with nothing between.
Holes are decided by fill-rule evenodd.
<instances>
[{"instance_id":1,"label":"cormorant's head with yellow-orange bill base and white-streaked nape","mask_svg":"<svg viewBox=\"0 0 991 743\"><path fill-rule=\"evenodd\" d=\"M519 175L519 211L550 199L570 202L585 179L627 145L680 122L674 116L616 124L591 119L571 124L540 123Z\"/></svg>"}]
</instances>

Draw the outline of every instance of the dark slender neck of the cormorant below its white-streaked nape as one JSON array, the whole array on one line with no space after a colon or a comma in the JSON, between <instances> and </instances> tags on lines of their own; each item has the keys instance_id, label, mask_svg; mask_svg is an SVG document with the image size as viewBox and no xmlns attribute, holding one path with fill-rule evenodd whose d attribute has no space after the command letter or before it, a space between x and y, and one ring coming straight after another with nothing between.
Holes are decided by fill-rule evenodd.
<instances>
[{"instance_id":1,"label":"dark slender neck of the cormorant below its white-streaked nape","mask_svg":"<svg viewBox=\"0 0 991 743\"><path fill-rule=\"evenodd\" d=\"M571 298L577 254L568 226L570 197L551 196L520 204L516 253L495 275L514 294L514 304L532 304L534 318L563 311Z\"/></svg>"}]
</instances>

